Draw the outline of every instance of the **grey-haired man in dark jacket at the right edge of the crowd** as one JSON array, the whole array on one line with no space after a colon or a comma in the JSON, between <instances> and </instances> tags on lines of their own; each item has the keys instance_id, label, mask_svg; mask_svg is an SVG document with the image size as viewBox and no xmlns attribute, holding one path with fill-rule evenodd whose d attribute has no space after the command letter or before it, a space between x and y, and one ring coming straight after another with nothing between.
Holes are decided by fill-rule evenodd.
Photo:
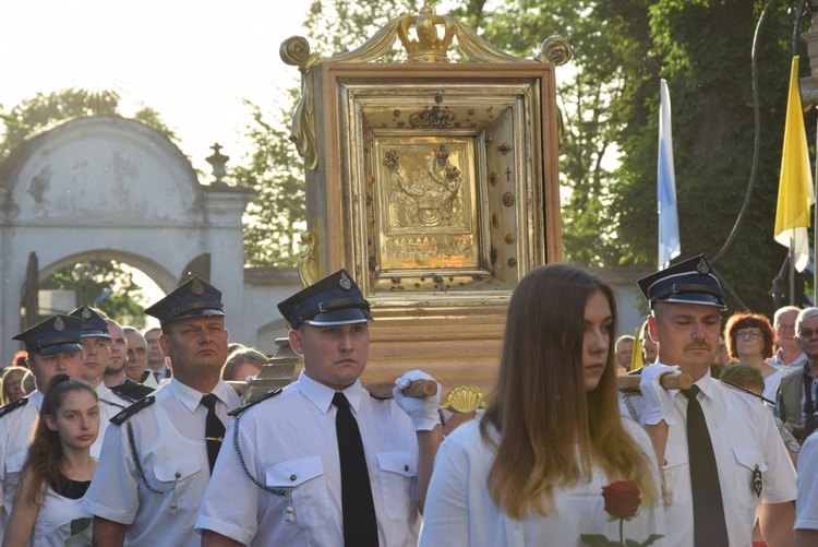
<instances>
[{"instance_id":1,"label":"grey-haired man in dark jacket at the right edge of the crowd","mask_svg":"<svg viewBox=\"0 0 818 547\"><path fill-rule=\"evenodd\" d=\"M801 310L795 320L795 340L806 361L799 370L781 379L775 415L804 442L818 426L818 308Z\"/></svg>"}]
</instances>

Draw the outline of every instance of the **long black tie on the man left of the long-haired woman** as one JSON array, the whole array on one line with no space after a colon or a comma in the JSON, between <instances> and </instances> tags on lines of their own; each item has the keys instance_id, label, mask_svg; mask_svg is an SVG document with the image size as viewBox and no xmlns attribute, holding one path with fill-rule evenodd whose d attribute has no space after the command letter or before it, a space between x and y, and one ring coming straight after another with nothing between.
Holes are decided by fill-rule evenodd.
<instances>
[{"instance_id":1,"label":"long black tie on the man left of the long-haired woman","mask_svg":"<svg viewBox=\"0 0 818 547\"><path fill-rule=\"evenodd\" d=\"M377 521L372 486L363 455L363 442L358 421L344 393L336 392L333 404L335 432L338 437L338 459L341 468L341 512L344 513L344 545L347 547L377 546Z\"/></svg>"}]
</instances>

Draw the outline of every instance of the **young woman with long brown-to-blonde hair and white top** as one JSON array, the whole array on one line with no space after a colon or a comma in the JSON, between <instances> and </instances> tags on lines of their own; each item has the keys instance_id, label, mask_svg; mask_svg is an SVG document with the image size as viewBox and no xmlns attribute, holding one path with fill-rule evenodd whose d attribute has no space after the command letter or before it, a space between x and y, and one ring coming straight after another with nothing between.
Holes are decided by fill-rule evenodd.
<instances>
[{"instance_id":1,"label":"young woman with long brown-to-blonde hair and white top","mask_svg":"<svg viewBox=\"0 0 818 547\"><path fill-rule=\"evenodd\" d=\"M664 532L655 456L619 416L616 305L588 272L550 264L517 286L496 390L479 420L446 438L429 487L420 545L584 545L618 540L602 487L633 481L641 503L624 528Z\"/></svg>"}]
</instances>

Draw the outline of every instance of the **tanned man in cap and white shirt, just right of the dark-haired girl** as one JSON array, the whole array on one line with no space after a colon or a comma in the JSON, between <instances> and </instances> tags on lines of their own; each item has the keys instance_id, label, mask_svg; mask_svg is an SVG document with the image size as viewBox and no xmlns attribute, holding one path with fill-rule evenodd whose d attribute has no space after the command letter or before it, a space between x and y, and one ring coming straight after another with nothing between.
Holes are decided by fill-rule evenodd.
<instances>
[{"instance_id":1,"label":"tanned man in cap and white shirt, just right of the dark-haired girl","mask_svg":"<svg viewBox=\"0 0 818 547\"><path fill-rule=\"evenodd\" d=\"M220 377L228 340L222 308L221 293L193 277L145 310L161 323L159 343L176 370L108 427L83 499L94 515L94 545L201 545L193 524L227 413L239 406Z\"/></svg>"}]
</instances>

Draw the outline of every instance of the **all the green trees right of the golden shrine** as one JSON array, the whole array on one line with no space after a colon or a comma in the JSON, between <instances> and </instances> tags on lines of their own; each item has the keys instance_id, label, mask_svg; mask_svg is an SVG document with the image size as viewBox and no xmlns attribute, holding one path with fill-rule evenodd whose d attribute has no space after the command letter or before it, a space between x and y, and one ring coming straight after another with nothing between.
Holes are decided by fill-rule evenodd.
<instances>
[{"instance_id":1,"label":"all the green trees right of the golden shrine","mask_svg":"<svg viewBox=\"0 0 818 547\"><path fill-rule=\"evenodd\" d=\"M720 252L753 167L750 53L767 3L506 0L502 9L486 9L481 0L464 2L460 19L516 55L530 55L550 35L574 46L574 60L557 69L567 76L557 88L566 127L560 171L567 259L588 265L655 264L660 78L667 80L673 102L681 258ZM772 311L768 290L786 254L772 240L772 229L794 4L774 4L760 29L758 174L737 237L717 263L741 300L765 312ZM804 76L809 71L801 45ZM810 114L807 127L814 118ZM612 155L618 155L618 167L606 160Z\"/></svg>"}]
</instances>

